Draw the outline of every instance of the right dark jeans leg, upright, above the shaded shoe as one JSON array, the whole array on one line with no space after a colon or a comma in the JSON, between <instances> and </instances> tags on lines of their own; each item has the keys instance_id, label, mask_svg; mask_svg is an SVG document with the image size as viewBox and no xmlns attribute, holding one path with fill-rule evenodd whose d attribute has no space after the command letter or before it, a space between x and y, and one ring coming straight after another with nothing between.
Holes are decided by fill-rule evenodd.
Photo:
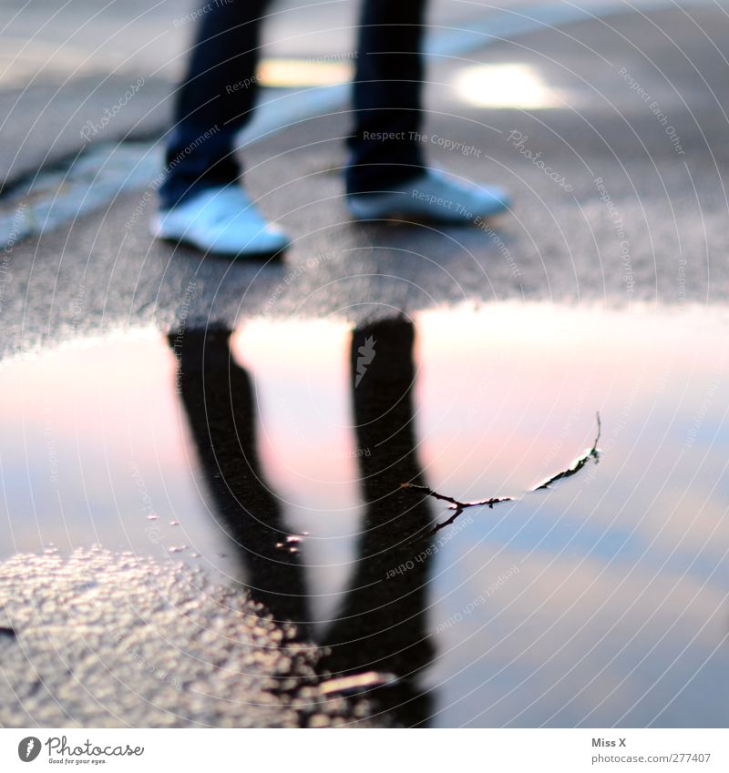
<instances>
[{"instance_id":1,"label":"right dark jeans leg, upright, above the shaded shoe","mask_svg":"<svg viewBox=\"0 0 729 773\"><path fill-rule=\"evenodd\" d=\"M422 171L426 0L363 0L354 82L354 134L346 182L365 193ZM385 137L384 137L385 135Z\"/></svg>"}]
</instances>

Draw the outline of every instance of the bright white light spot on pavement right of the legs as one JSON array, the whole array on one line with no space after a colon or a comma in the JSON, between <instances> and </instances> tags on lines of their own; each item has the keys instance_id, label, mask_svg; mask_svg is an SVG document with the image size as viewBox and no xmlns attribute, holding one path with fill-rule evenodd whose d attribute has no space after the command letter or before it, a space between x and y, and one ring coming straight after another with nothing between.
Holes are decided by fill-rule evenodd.
<instances>
[{"instance_id":1,"label":"bright white light spot on pavement right of the legs","mask_svg":"<svg viewBox=\"0 0 729 773\"><path fill-rule=\"evenodd\" d=\"M561 99L529 65L477 65L456 76L459 97L477 107L560 107Z\"/></svg>"}]
</instances>

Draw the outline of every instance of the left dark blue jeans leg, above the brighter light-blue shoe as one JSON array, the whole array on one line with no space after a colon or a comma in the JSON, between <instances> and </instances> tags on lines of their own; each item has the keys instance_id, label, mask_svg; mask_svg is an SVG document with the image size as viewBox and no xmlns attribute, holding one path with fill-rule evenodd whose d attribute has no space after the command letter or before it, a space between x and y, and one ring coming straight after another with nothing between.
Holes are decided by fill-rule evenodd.
<instances>
[{"instance_id":1,"label":"left dark blue jeans leg, above the brighter light-blue shoe","mask_svg":"<svg viewBox=\"0 0 729 773\"><path fill-rule=\"evenodd\" d=\"M210 0L197 22L188 73L177 93L174 127L159 188L163 209L192 190L241 175L232 153L256 95L259 32L267 0Z\"/></svg>"}]
</instances>

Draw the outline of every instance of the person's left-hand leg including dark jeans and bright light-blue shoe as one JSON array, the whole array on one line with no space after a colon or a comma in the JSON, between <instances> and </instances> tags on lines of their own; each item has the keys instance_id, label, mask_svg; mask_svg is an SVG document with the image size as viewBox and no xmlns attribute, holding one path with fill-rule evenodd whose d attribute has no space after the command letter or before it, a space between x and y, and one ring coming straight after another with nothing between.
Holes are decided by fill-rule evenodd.
<instances>
[{"instance_id":1,"label":"person's left-hand leg including dark jeans and bright light-blue shoe","mask_svg":"<svg viewBox=\"0 0 729 773\"><path fill-rule=\"evenodd\" d=\"M159 213L152 233L229 258L288 246L237 184L238 130L251 116L262 14L268 0L210 0L203 6L190 70L170 132Z\"/></svg>"}]
</instances>

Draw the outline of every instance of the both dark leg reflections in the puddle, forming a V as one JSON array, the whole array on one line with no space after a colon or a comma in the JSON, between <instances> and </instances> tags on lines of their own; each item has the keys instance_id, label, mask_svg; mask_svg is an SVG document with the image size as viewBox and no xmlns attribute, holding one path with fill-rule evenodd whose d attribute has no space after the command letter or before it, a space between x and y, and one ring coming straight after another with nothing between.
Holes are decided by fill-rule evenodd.
<instances>
[{"instance_id":1,"label":"both dark leg reflections in the puddle, forming a V","mask_svg":"<svg viewBox=\"0 0 729 773\"><path fill-rule=\"evenodd\" d=\"M231 331L169 337L180 365L182 402L221 523L248 569L253 597L277 620L308 620L299 554L289 553L281 507L262 478L256 453L252 381L231 358ZM407 320L357 328L351 346L354 432L364 519L349 590L323 637L322 678L378 672L367 693L399 724L424 725L430 697L417 687L432 659L426 585L432 516L413 419L415 330ZM313 524L315 527L315 524ZM277 544L284 543L283 548Z\"/></svg>"}]
</instances>

